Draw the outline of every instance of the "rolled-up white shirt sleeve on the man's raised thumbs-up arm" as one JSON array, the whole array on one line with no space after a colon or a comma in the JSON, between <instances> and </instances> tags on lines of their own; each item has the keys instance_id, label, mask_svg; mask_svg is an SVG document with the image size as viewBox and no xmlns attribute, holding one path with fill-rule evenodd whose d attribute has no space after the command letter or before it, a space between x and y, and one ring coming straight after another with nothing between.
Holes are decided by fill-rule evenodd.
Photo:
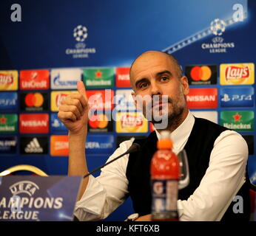
<instances>
[{"instance_id":1,"label":"rolled-up white shirt sleeve on the man's raised thumbs-up arm","mask_svg":"<svg viewBox=\"0 0 256 236\"><path fill-rule=\"evenodd\" d=\"M125 153L131 145L130 140L122 142L107 162ZM75 204L74 215L79 221L98 221L107 218L126 200L128 158L129 154L102 168L101 175L97 178L90 176L84 195Z\"/></svg>"}]
</instances>

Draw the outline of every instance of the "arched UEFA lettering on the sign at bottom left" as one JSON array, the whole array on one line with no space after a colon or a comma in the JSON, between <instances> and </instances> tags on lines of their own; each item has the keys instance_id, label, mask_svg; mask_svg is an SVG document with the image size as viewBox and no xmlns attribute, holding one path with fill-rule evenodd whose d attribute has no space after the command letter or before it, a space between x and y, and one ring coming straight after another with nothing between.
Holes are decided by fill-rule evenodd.
<instances>
[{"instance_id":1,"label":"arched UEFA lettering on the sign at bottom left","mask_svg":"<svg viewBox=\"0 0 256 236\"><path fill-rule=\"evenodd\" d=\"M25 193L31 197L36 192L36 190L39 190L39 187L32 181L19 181L16 184L10 186L9 189L13 195Z\"/></svg>"}]
</instances>

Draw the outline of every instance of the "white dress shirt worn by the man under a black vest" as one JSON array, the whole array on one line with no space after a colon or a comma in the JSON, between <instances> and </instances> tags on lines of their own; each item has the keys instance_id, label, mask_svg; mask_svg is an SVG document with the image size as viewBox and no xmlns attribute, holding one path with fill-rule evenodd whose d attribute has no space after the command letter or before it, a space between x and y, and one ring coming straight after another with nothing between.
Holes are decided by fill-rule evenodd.
<instances>
[{"instance_id":1,"label":"white dress shirt worn by the man under a black vest","mask_svg":"<svg viewBox=\"0 0 256 236\"><path fill-rule=\"evenodd\" d=\"M172 132L172 150L176 154L185 147L194 123L195 117L189 111L183 123ZM157 136L159 139L158 132ZM107 162L126 152L131 145L130 140L122 142ZM178 200L180 221L220 221L245 182L247 158L248 147L239 133L220 133L215 140L209 167L200 185L186 201ZM129 155L123 156L101 169L101 175L97 178L90 176L87 190L75 204L74 215L79 221L98 221L107 218L127 199L128 159Z\"/></svg>"}]
</instances>

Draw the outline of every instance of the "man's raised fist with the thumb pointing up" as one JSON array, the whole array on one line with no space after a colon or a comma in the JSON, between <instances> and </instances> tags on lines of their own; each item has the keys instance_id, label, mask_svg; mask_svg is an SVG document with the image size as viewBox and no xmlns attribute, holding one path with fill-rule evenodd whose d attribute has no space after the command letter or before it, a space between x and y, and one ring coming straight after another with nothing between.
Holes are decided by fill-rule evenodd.
<instances>
[{"instance_id":1,"label":"man's raised fist with the thumb pointing up","mask_svg":"<svg viewBox=\"0 0 256 236\"><path fill-rule=\"evenodd\" d=\"M77 83L78 94L69 94L59 106L58 118L72 133L87 133L88 111L83 81Z\"/></svg>"}]
</instances>

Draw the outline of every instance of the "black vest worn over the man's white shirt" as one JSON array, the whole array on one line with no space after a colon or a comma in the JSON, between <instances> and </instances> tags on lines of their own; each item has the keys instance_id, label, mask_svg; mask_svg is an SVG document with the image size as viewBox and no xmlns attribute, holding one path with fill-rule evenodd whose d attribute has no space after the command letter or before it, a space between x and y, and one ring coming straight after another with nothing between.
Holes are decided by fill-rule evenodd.
<instances>
[{"instance_id":1,"label":"black vest worn over the man's white shirt","mask_svg":"<svg viewBox=\"0 0 256 236\"><path fill-rule=\"evenodd\" d=\"M215 139L226 130L227 128L210 122L207 119L195 118L192 132L184 147L189 162L190 182L183 190L179 190L178 199L186 200L199 186L207 167L209 167L209 157ZM155 131L150 133L146 139L135 140L135 142L141 145L141 150L138 153L129 155L129 162L127 164L128 190L132 198L133 208L140 215L147 215L151 212L150 164L152 156L157 150L157 141L158 138ZM223 215L222 221L249 221L250 198L247 172L246 183L243 184L237 195L243 197L243 213L235 214L233 212L232 208L235 202L232 201Z\"/></svg>"}]
</instances>

